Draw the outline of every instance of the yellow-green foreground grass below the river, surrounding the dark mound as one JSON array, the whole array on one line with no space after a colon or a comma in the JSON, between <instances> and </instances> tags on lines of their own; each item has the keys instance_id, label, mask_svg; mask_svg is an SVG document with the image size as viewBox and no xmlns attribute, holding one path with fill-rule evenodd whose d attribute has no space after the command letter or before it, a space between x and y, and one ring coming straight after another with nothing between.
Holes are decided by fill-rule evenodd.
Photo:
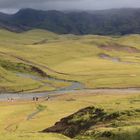
<instances>
[{"instance_id":1,"label":"yellow-green foreground grass below the river, surrounding the dark mound","mask_svg":"<svg viewBox=\"0 0 140 140\"><path fill-rule=\"evenodd\" d=\"M125 92L97 92L97 93L69 93L59 96L51 96L50 101L41 100L38 103L31 101L1 102L0 103L0 139L5 140L67 140L69 138L57 134L42 134L41 130L54 125L61 118L66 117L81 108L95 106L105 109L106 112L134 111L140 108L140 94ZM37 111L41 105L44 109L27 119L29 115ZM140 129L140 114L122 116L114 122L116 127L106 125L95 126L94 131L102 132L135 132ZM121 130L121 131L119 131Z\"/></svg>"}]
</instances>

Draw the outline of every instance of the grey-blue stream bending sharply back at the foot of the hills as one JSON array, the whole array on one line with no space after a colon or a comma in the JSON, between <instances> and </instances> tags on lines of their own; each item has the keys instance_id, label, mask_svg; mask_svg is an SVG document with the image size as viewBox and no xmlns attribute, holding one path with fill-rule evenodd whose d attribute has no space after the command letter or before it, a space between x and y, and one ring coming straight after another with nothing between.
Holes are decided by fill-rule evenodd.
<instances>
[{"instance_id":1,"label":"grey-blue stream bending sharply back at the foot of the hills","mask_svg":"<svg viewBox=\"0 0 140 140\"><path fill-rule=\"evenodd\" d=\"M68 93L68 92L74 92L77 90L83 90L85 89L85 86L79 82L72 82L72 81L67 81L63 79L55 79L55 78L42 78L39 76L34 76L30 74L23 74L23 73L16 73L17 76L23 77L23 78L31 78L35 81L40 81L44 84L44 86L50 86L51 84L43 82L43 80L50 80L50 81L57 81L57 82L70 82L71 84L66 87L61 87L57 88L54 91L46 91L46 92L38 92L38 93L0 93L0 101L7 101L9 99L14 99L14 100L32 100L33 97L38 97L38 98L45 98L48 97L50 94L61 94L61 93ZM52 86L52 85L51 85Z\"/></svg>"}]
</instances>

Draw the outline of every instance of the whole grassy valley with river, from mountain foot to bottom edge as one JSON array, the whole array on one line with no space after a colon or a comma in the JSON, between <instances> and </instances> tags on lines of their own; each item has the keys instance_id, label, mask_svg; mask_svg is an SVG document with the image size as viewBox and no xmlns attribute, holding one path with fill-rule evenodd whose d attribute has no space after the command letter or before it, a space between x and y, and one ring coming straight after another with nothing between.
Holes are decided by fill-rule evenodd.
<instances>
[{"instance_id":1,"label":"whole grassy valley with river, from mountain foot to bottom edge","mask_svg":"<svg viewBox=\"0 0 140 140\"><path fill-rule=\"evenodd\" d=\"M139 44L0 29L0 140L139 140Z\"/></svg>"}]
</instances>

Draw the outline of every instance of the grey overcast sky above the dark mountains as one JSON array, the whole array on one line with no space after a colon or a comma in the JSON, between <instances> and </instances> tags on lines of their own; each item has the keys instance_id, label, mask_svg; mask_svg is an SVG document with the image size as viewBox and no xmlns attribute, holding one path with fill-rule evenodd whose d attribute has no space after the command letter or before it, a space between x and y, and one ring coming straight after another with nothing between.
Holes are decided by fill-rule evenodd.
<instances>
[{"instance_id":1,"label":"grey overcast sky above the dark mountains","mask_svg":"<svg viewBox=\"0 0 140 140\"><path fill-rule=\"evenodd\" d=\"M97 10L140 7L140 0L0 0L0 11L13 13L21 8L41 10Z\"/></svg>"}]
</instances>

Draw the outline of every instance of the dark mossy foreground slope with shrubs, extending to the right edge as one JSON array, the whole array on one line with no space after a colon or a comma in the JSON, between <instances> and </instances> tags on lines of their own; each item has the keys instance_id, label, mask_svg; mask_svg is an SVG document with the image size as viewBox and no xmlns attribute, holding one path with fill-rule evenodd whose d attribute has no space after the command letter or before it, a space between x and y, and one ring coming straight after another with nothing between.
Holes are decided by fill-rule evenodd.
<instances>
[{"instance_id":1,"label":"dark mossy foreground slope with shrubs, extending to the right edge","mask_svg":"<svg viewBox=\"0 0 140 140\"><path fill-rule=\"evenodd\" d=\"M54 126L43 130L44 133L60 133L70 138L74 138L79 136L78 139L93 139L96 138L99 140L102 138L103 140L120 140L131 139L134 140L139 139L139 132L135 131L132 133L131 137L128 135L127 137L123 137L123 134L119 134L117 131L117 125L113 125L118 121L122 121L127 117L140 115L139 110L126 110L126 111L117 111L117 112L106 112L102 108L95 108L94 106L86 107L84 109L79 110L78 112L61 119L59 122L56 122ZM105 127L104 130L96 131L98 127ZM110 127L110 130L107 129ZM112 128L111 128L112 127ZM115 130L116 129L116 130ZM105 131L106 130L106 131ZM115 132L116 131L116 132ZM124 130L122 130L124 131ZM125 132L125 131L124 131ZM120 137L119 137L120 135ZM125 135L125 134L124 134ZM85 136L85 137L83 137Z\"/></svg>"}]
</instances>

